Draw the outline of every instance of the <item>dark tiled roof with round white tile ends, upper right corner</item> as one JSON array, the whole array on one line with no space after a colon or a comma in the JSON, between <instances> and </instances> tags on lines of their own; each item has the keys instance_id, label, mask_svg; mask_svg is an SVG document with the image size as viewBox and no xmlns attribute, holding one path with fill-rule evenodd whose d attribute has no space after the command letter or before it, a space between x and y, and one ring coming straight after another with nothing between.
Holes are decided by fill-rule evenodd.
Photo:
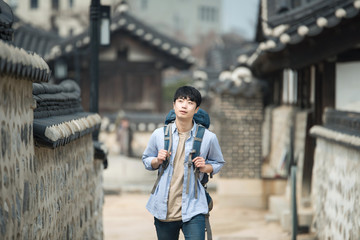
<instances>
[{"instance_id":1,"label":"dark tiled roof with round white tile ends, upper right corner","mask_svg":"<svg viewBox=\"0 0 360 240\"><path fill-rule=\"evenodd\" d=\"M325 30L337 27L346 19L358 17L360 0L314 1L299 11L296 10L296 14L290 11L268 18L269 11L274 10L273 7L270 0L261 0L259 19L261 20L260 25L264 39L254 50L244 52L238 57L237 64L239 67L253 68L255 65L261 65L263 63L259 59L262 56L279 53L289 46L303 43L309 37L321 36ZM266 58L264 59L269 61ZM219 76L220 82L224 79L231 79L234 82L230 85L225 84L229 90L237 81L237 77L234 77L236 69L234 71L223 71Z\"/></svg>"}]
</instances>

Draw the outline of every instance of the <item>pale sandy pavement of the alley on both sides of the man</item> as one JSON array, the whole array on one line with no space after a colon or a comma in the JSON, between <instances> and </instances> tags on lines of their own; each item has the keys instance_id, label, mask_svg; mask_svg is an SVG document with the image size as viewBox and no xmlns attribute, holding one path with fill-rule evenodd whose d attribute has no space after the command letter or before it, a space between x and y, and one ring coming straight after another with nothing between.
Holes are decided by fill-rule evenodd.
<instances>
[{"instance_id":1,"label":"pale sandy pavement of the alley on both sides of the man","mask_svg":"<svg viewBox=\"0 0 360 240\"><path fill-rule=\"evenodd\" d=\"M156 172L145 170L140 159L109 156L109 168L104 170L105 240L156 240L153 217L145 209L155 177ZM216 192L211 196L214 209L210 213L210 222L214 240L291 238L278 223L265 220L267 211L220 207ZM180 239L183 239L182 233Z\"/></svg>"}]
</instances>

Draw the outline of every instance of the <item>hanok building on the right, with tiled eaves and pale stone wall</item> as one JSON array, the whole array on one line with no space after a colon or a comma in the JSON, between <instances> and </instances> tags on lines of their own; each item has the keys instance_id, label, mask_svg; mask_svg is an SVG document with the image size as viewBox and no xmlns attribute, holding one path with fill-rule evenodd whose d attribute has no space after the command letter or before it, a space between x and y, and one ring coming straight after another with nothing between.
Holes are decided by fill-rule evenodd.
<instances>
[{"instance_id":1,"label":"hanok building on the right, with tiled eaves and pale stone wall","mask_svg":"<svg viewBox=\"0 0 360 240\"><path fill-rule=\"evenodd\" d=\"M297 167L299 222L291 221L289 194L269 205L281 209L286 229L313 227L319 239L360 237L359 11L359 0L262 0L259 45L239 57L270 87L263 176Z\"/></svg>"}]
</instances>

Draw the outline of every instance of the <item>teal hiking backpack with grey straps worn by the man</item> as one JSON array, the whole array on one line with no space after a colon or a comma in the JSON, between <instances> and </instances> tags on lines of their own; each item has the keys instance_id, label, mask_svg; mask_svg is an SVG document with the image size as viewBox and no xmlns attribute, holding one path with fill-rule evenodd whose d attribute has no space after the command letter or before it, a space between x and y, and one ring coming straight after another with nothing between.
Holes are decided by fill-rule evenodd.
<instances>
[{"instance_id":1,"label":"teal hiking backpack with grey straps worn by the man","mask_svg":"<svg viewBox=\"0 0 360 240\"><path fill-rule=\"evenodd\" d=\"M164 149L166 149L168 152L171 152L171 146L172 146L172 130L171 130L171 125L172 123L175 121L176 115L175 115L175 111L172 109L168 115L166 116L165 119L165 126L164 126ZM199 108L199 110L197 111L197 113L194 115L194 121L197 124L197 128L196 128L196 134L195 134L195 138L194 138L194 143L193 143L193 148L190 152L191 154L191 160L193 160L194 158L196 158L197 156L200 155L200 148L201 148L201 142L202 139L204 137L204 133L205 133L205 129L209 128L210 126L210 117L209 114ZM169 165L169 159L167 158L163 163L162 163L162 168L158 173L158 178L156 179L156 182L154 184L154 187L151 191L151 193L153 194L155 192L156 186L158 185L160 178L162 176L162 174L164 173L165 169L168 167ZM190 174L191 174L191 166L193 165L192 161L188 161L188 177L187 177L187 184L186 184L186 193L189 193L189 185L190 185ZM200 171L198 168L194 167L194 174L195 174L195 179L199 178L200 175ZM212 173L210 174L210 177L212 178ZM209 175L207 173L204 173L204 176L202 178L201 185L204 187L205 189L205 195L206 195L206 200L208 203L208 207L209 207L209 212L212 210L213 207L213 202L212 202L212 198L210 196L210 194L207 191L207 182L209 181ZM197 198L197 184L198 181L195 180L195 198ZM209 222L209 214L207 214L205 216L205 226L206 226L206 232L207 232L207 237L208 240L212 239L212 234L211 234L211 227L210 227L210 222Z\"/></svg>"}]
</instances>

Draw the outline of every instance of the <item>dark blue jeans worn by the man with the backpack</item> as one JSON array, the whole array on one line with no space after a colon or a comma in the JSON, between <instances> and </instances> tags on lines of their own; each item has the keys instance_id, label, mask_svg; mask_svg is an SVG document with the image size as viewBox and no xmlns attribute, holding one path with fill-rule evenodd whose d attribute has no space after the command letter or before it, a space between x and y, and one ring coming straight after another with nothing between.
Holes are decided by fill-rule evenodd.
<instances>
[{"instance_id":1,"label":"dark blue jeans worn by the man with the backpack","mask_svg":"<svg viewBox=\"0 0 360 240\"><path fill-rule=\"evenodd\" d=\"M196 215L188 222L162 222L156 218L155 227L158 240L178 240L180 229L186 240L205 239L205 216Z\"/></svg>"}]
</instances>

